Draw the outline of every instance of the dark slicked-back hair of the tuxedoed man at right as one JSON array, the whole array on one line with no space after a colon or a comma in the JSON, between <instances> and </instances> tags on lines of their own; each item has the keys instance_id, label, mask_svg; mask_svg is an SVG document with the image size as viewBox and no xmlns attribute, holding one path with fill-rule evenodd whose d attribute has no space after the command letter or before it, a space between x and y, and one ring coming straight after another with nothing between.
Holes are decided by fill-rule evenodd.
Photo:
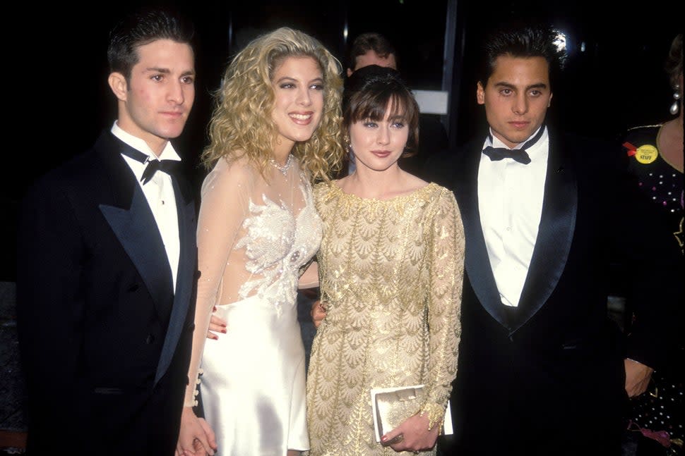
<instances>
[{"instance_id":1,"label":"dark slicked-back hair of the tuxedoed man at right","mask_svg":"<svg viewBox=\"0 0 685 456\"><path fill-rule=\"evenodd\" d=\"M482 47L478 81L483 87L487 85L500 56L542 57L547 61L549 83L554 87L566 62L566 52L559 49L558 39L559 32L550 25L508 23L494 29L487 35Z\"/></svg>"}]
</instances>

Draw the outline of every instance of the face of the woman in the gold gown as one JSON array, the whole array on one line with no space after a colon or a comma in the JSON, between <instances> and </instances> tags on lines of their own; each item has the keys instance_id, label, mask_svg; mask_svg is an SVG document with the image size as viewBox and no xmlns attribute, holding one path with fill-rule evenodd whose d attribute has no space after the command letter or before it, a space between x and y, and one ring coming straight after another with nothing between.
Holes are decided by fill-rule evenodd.
<instances>
[{"instance_id":1,"label":"face of the woman in the gold gown","mask_svg":"<svg viewBox=\"0 0 685 456\"><path fill-rule=\"evenodd\" d=\"M361 119L350 125L350 144L357 168L385 171L397 164L409 138L409 126L404 110L392 116L392 101L388 101L382 120Z\"/></svg>"}]
</instances>

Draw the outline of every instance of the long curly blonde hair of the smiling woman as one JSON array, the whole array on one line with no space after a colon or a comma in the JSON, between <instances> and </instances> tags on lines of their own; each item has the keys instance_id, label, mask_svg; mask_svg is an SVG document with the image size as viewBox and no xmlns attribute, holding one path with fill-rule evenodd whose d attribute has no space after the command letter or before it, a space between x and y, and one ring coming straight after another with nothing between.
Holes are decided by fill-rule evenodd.
<instances>
[{"instance_id":1,"label":"long curly blonde hair of the smiling woman","mask_svg":"<svg viewBox=\"0 0 685 456\"><path fill-rule=\"evenodd\" d=\"M214 94L210 144L201 156L206 168L222 157L233 161L247 156L266 178L278 137L271 118L275 98L271 82L276 68L291 56L314 58L323 73L321 123L309 140L295 143L292 154L313 181L330 180L340 170L345 156L340 127L342 66L317 39L289 27L257 37L226 68Z\"/></svg>"}]
</instances>

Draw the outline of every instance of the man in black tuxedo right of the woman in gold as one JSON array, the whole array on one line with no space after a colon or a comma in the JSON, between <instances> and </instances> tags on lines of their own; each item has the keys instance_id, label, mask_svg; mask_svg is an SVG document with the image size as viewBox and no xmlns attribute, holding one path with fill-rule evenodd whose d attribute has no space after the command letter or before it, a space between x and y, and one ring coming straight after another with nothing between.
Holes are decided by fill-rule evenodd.
<instances>
[{"instance_id":1,"label":"man in black tuxedo right of the woman in gold","mask_svg":"<svg viewBox=\"0 0 685 456\"><path fill-rule=\"evenodd\" d=\"M443 455L619 455L627 398L677 331L669 287L683 264L649 235L650 207L621 155L545 125L564 58L555 38L528 26L490 35L476 92L489 131L427 166L453 188L466 234ZM639 301L625 344L607 316L612 252L631 264Z\"/></svg>"}]
</instances>

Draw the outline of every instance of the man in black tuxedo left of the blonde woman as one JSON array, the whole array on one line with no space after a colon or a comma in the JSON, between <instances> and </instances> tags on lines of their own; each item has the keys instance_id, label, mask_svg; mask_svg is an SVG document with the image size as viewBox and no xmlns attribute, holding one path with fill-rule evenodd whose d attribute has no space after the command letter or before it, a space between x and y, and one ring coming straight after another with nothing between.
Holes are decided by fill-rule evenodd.
<instances>
[{"instance_id":1,"label":"man in black tuxedo left of the blonde woman","mask_svg":"<svg viewBox=\"0 0 685 456\"><path fill-rule=\"evenodd\" d=\"M20 209L28 453L173 455L196 292L196 209L172 147L195 97L193 27L138 11L110 33L118 118Z\"/></svg>"}]
</instances>

